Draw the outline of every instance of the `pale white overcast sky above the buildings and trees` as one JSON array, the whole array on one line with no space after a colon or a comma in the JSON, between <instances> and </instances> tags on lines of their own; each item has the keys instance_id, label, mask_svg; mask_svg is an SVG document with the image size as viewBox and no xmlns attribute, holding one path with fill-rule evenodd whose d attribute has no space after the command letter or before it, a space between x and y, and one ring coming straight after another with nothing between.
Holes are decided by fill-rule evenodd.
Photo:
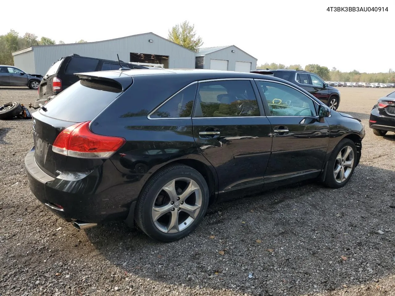
<instances>
[{"instance_id":1,"label":"pale white overcast sky above the buildings and trees","mask_svg":"<svg viewBox=\"0 0 395 296\"><path fill-rule=\"evenodd\" d=\"M67 3L67 4L66 4ZM10 29L73 43L195 25L203 47L236 45L265 62L320 64L340 71L395 68L395 2L383 1L2 1L0 35ZM134 5L135 4L135 5ZM384 12L329 12L328 6L388 7ZM63 15L63 16L62 16Z\"/></svg>"}]
</instances>

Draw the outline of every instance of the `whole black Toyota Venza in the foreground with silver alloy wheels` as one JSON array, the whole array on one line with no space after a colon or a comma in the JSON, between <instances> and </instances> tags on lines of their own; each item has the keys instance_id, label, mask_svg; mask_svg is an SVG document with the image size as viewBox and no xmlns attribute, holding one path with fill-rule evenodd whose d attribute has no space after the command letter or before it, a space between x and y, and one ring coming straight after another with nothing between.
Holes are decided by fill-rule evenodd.
<instances>
[{"instance_id":1,"label":"whole black Toyota Venza in the foreground with silver alloy wheels","mask_svg":"<svg viewBox=\"0 0 395 296\"><path fill-rule=\"evenodd\" d=\"M317 178L342 187L361 122L290 82L254 73L139 69L79 73L34 112L30 189L84 229L111 220L174 241L207 206Z\"/></svg>"}]
</instances>

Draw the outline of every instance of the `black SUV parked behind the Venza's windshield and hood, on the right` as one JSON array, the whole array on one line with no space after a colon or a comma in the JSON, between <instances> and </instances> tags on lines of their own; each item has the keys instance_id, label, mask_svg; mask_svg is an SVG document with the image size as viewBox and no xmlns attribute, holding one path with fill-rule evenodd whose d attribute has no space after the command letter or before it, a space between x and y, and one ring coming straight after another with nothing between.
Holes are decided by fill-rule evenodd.
<instances>
[{"instance_id":1,"label":"black SUV parked behind the Venza's windshield and hood, on the right","mask_svg":"<svg viewBox=\"0 0 395 296\"><path fill-rule=\"evenodd\" d=\"M289 70L289 69L278 69L278 70L263 70L256 69L251 73L259 73L265 75L271 75L278 77L300 86L307 90L317 99L320 99L332 110L337 110L340 105L340 92L336 88L329 86L324 82L318 75L303 70Z\"/></svg>"}]
</instances>

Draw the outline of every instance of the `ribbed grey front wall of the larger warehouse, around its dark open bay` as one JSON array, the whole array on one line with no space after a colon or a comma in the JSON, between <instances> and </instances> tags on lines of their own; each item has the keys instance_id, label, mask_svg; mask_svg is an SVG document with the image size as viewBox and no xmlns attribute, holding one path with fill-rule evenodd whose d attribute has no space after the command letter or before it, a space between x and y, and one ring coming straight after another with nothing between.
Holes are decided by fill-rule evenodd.
<instances>
[{"instance_id":1,"label":"ribbed grey front wall of the larger warehouse, around its dark open bay","mask_svg":"<svg viewBox=\"0 0 395 296\"><path fill-rule=\"evenodd\" d=\"M154 42L148 42L152 39ZM94 43L73 43L55 46L34 47L34 60L37 74L44 75L59 58L70 54L130 61L130 52L160 54L169 56L169 68L195 68L195 53L153 34L130 36L127 38L99 41Z\"/></svg>"}]
</instances>

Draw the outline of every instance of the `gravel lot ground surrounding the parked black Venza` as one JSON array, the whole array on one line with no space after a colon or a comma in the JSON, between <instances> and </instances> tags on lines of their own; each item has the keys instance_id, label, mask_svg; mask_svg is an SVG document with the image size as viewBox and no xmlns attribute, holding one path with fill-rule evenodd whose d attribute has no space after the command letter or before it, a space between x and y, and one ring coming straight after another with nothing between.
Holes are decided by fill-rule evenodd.
<instances>
[{"instance_id":1,"label":"gravel lot ground surrounding the parked black Venza","mask_svg":"<svg viewBox=\"0 0 395 296\"><path fill-rule=\"evenodd\" d=\"M395 295L395 135L368 127L389 89L340 88L366 137L350 182L307 182L209 209L162 244L124 223L79 231L28 188L31 120L0 121L0 295ZM37 91L0 88L0 104Z\"/></svg>"}]
</instances>

